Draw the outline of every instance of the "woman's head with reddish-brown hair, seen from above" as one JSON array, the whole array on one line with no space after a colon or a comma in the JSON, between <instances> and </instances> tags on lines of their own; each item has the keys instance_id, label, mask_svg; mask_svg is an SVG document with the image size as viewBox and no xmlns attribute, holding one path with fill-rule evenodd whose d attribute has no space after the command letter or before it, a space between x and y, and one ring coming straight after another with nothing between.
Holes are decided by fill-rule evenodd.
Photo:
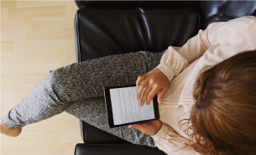
<instances>
[{"instance_id":1,"label":"woman's head with reddish-brown hair, seen from above","mask_svg":"<svg viewBox=\"0 0 256 155\"><path fill-rule=\"evenodd\" d=\"M197 151L256 153L256 51L236 54L196 80L191 110Z\"/></svg>"}]
</instances>

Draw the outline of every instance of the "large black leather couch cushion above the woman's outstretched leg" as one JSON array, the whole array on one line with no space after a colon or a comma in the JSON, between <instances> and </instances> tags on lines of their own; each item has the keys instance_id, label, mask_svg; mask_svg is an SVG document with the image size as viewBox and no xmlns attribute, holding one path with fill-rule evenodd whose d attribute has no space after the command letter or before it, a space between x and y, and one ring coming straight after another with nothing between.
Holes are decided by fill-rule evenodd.
<instances>
[{"instance_id":1,"label":"large black leather couch cushion above the woman's outstretched leg","mask_svg":"<svg viewBox=\"0 0 256 155\"><path fill-rule=\"evenodd\" d=\"M182 46L199 30L199 15L183 8L83 8L75 19L77 60Z\"/></svg>"}]
</instances>

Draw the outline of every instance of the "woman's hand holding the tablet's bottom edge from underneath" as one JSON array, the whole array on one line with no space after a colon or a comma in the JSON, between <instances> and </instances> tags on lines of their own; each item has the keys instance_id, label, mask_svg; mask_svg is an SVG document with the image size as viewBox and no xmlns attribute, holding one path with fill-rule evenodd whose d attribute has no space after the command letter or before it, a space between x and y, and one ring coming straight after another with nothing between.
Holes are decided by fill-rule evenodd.
<instances>
[{"instance_id":1,"label":"woman's hand holding the tablet's bottom edge from underneath","mask_svg":"<svg viewBox=\"0 0 256 155\"><path fill-rule=\"evenodd\" d=\"M129 125L128 127L133 127L141 132L144 132L147 135L154 136L161 129L162 122L159 120L147 121L144 123Z\"/></svg>"}]
</instances>

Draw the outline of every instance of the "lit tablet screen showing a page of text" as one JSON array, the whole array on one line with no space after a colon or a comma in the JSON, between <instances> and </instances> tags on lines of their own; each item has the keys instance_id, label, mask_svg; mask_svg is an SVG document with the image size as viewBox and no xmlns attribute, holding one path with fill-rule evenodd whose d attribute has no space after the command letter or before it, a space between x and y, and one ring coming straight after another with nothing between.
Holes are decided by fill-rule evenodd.
<instances>
[{"instance_id":1,"label":"lit tablet screen showing a page of text","mask_svg":"<svg viewBox=\"0 0 256 155\"><path fill-rule=\"evenodd\" d=\"M115 126L155 118L153 101L149 105L139 106L136 86L112 88L109 89L109 92L112 103L113 124Z\"/></svg>"}]
</instances>

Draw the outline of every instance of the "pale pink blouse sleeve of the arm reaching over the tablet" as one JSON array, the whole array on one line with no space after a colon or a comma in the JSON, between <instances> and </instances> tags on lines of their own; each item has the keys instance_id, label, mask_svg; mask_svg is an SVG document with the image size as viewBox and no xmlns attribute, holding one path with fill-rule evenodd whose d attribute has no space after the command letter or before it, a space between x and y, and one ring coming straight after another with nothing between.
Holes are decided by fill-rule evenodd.
<instances>
[{"instance_id":1,"label":"pale pink blouse sleeve of the arm reaching over the tablet","mask_svg":"<svg viewBox=\"0 0 256 155\"><path fill-rule=\"evenodd\" d=\"M200 58L207 49L219 45L242 44L255 47L254 35L255 20L253 16L232 19L228 22L210 24L206 30L189 39L179 50L170 46L163 54L160 64L156 67L161 70L169 80ZM246 43L245 43L246 41Z\"/></svg>"}]
</instances>

